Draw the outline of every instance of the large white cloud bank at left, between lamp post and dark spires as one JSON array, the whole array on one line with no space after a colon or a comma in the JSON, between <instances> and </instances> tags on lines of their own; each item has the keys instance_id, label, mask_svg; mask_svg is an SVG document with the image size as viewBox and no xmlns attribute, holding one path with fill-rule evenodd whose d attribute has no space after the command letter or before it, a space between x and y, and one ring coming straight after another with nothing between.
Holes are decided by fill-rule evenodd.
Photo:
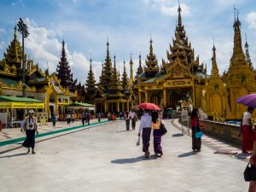
<instances>
[{"instance_id":1,"label":"large white cloud bank at left, between lamp post and dark spires","mask_svg":"<svg viewBox=\"0 0 256 192\"><path fill-rule=\"evenodd\" d=\"M58 38L61 38L59 36L60 32L56 32L55 29L38 27L34 21L29 19L26 19L26 24L30 32L25 40L26 52L34 62L39 63L43 70L49 66L49 72L55 72L61 58L62 42L58 40ZM67 61L73 73L73 79L78 79L81 84L84 84L90 68L89 60L79 51L70 52L68 50L68 42L65 44L65 50ZM100 74L102 66L93 66L93 70L95 73Z\"/></svg>"}]
</instances>

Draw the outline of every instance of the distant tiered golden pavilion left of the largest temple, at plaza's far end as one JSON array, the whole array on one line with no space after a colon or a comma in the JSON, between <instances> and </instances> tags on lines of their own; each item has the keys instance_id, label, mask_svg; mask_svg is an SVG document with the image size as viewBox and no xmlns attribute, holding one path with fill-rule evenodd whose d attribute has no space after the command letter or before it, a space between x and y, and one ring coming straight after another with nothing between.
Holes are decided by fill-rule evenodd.
<instances>
[{"instance_id":1,"label":"distant tiered golden pavilion left of the largest temple, at plaza's far end","mask_svg":"<svg viewBox=\"0 0 256 192\"><path fill-rule=\"evenodd\" d=\"M132 61L130 61L132 66ZM136 97L131 90L131 79L129 81L125 69L122 80L120 80L119 73L116 68L116 57L113 56L113 64L109 55L109 43L107 43L107 56L105 62L102 64L102 75L97 86L96 94L91 97L96 105L96 112L113 112L119 113L133 108ZM89 79L88 79L89 80ZM95 81L91 82L92 85ZM87 83L87 89L90 87ZM91 86L92 87L92 86Z\"/></svg>"}]
</instances>

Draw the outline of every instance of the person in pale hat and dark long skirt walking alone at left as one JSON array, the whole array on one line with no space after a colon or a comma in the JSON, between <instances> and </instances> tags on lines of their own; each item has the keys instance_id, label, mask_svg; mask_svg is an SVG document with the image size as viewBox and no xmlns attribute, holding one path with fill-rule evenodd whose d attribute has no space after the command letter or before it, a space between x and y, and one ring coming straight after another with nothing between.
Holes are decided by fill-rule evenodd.
<instances>
[{"instance_id":1,"label":"person in pale hat and dark long skirt walking alone at left","mask_svg":"<svg viewBox=\"0 0 256 192\"><path fill-rule=\"evenodd\" d=\"M34 111L30 109L28 111L28 117L24 120L24 131L26 131L26 139L22 146L28 148L27 153L30 153L32 148L32 154L36 154L35 148L35 133L38 135L38 119L33 117Z\"/></svg>"}]
</instances>

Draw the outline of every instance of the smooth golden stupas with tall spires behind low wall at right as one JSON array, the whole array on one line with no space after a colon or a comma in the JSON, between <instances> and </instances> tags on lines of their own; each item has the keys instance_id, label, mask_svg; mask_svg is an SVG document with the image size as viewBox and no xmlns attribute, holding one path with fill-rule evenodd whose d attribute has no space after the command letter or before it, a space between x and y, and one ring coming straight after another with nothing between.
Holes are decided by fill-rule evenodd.
<instances>
[{"instance_id":1,"label":"smooth golden stupas with tall spires behind low wall at right","mask_svg":"<svg viewBox=\"0 0 256 192\"><path fill-rule=\"evenodd\" d=\"M256 92L255 71L246 41L246 55L241 48L241 22L235 16L234 47L230 67L222 77L218 74L216 49L213 45L212 73L207 79L202 96L202 108L215 119L241 119L247 107L236 103L236 99Z\"/></svg>"}]
</instances>

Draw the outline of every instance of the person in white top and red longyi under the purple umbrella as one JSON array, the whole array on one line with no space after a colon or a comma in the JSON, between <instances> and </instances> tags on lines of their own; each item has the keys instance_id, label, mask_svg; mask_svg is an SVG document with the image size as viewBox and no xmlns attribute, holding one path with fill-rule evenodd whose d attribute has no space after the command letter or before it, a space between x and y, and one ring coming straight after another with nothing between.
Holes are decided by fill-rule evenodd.
<instances>
[{"instance_id":1,"label":"person in white top and red longyi under the purple umbrella","mask_svg":"<svg viewBox=\"0 0 256 192\"><path fill-rule=\"evenodd\" d=\"M256 139L256 132L253 131L252 113L254 108L248 107L247 112L243 113L241 118L241 152L247 153L253 150L253 140Z\"/></svg>"}]
</instances>

